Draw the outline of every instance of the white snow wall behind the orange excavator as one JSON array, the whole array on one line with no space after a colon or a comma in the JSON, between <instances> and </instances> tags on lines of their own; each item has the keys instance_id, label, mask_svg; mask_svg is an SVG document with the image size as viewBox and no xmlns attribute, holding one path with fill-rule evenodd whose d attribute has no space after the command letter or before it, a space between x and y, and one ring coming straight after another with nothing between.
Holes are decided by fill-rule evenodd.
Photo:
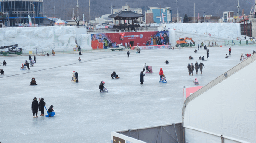
<instances>
[{"instance_id":1,"label":"white snow wall behind the orange excavator","mask_svg":"<svg viewBox=\"0 0 256 143\"><path fill-rule=\"evenodd\" d=\"M166 27L165 27L166 26ZM240 23L179 23L164 24L161 29L169 29L170 43L176 45L179 38L189 37L195 41L196 46L204 42L216 41L219 45L224 44L225 40L234 40L241 37ZM188 42L190 42L188 40Z\"/></svg>"}]
</instances>

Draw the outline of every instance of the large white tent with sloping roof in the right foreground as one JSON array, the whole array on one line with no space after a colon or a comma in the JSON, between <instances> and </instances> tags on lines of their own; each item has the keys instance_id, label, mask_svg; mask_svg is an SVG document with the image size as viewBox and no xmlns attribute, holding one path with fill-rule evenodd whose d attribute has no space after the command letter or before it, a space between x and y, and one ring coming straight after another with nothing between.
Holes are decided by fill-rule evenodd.
<instances>
[{"instance_id":1,"label":"large white tent with sloping roof in the right foreground","mask_svg":"<svg viewBox=\"0 0 256 143\"><path fill-rule=\"evenodd\" d=\"M221 135L225 143L256 143L255 59L256 54L186 99L186 143L221 143Z\"/></svg>"}]
</instances>

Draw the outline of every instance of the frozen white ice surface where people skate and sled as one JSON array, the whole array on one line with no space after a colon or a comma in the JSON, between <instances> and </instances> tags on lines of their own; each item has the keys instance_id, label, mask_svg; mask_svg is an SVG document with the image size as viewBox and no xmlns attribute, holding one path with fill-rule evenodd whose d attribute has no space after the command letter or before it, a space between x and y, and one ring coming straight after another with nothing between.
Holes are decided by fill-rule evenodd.
<instances>
[{"instance_id":1,"label":"frozen white ice surface where people skate and sled","mask_svg":"<svg viewBox=\"0 0 256 143\"><path fill-rule=\"evenodd\" d=\"M240 63L241 53L256 50L254 45L231 46L232 55L225 59L229 47L210 47L207 61L198 60L206 57L206 51L194 53L195 48L131 51L130 58L127 51L37 56L30 71L20 71L28 56L0 57L1 63L7 63L0 66L5 71L0 76L0 141L110 143L111 131L180 122L183 86L195 86L195 77L198 86L204 86ZM189 60L190 55L194 60ZM194 71L189 76L187 65L196 61L204 64L203 74ZM140 85L143 63L154 73L145 74ZM160 68L168 83L158 82ZM71 82L73 71L78 72L79 83ZM121 78L111 79L113 71ZM29 86L32 77L37 86ZM99 92L101 80L108 93ZM38 112L39 117L33 118L31 103L39 96L47 109L54 106L54 117L41 117Z\"/></svg>"}]
</instances>

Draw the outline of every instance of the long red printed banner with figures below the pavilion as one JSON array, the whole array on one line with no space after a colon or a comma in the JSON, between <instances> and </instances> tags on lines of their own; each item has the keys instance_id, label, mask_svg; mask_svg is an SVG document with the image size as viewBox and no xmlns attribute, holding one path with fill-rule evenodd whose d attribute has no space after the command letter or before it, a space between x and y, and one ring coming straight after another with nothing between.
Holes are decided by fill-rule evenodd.
<instances>
[{"instance_id":1,"label":"long red printed banner with figures below the pavilion","mask_svg":"<svg viewBox=\"0 0 256 143\"><path fill-rule=\"evenodd\" d=\"M169 45L169 31L96 33L91 34L91 40L93 50L108 49L118 44L124 46Z\"/></svg>"}]
</instances>

